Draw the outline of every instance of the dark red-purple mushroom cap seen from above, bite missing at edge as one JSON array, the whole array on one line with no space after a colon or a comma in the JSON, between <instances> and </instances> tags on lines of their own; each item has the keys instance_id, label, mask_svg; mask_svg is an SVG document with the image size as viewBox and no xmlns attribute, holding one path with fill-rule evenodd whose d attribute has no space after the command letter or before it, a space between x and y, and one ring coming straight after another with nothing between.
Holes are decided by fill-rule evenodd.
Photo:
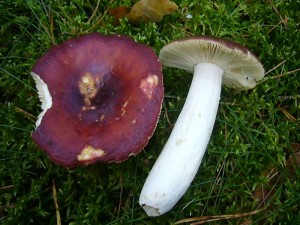
<instances>
[{"instance_id":1,"label":"dark red-purple mushroom cap seen from above, bite missing at edge","mask_svg":"<svg viewBox=\"0 0 300 225\"><path fill-rule=\"evenodd\" d=\"M42 113L32 138L65 167L120 162L142 150L161 110L161 64L126 36L87 34L33 66Z\"/></svg>"}]
</instances>

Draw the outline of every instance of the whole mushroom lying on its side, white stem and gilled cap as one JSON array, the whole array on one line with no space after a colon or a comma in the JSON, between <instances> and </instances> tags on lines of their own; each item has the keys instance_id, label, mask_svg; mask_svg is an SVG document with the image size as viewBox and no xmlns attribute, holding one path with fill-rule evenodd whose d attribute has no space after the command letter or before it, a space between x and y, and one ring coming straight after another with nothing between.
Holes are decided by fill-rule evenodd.
<instances>
[{"instance_id":1,"label":"whole mushroom lying on its side, white stem and gilled cap","mask_svg":"<svg viewBox=\"0 0 300 225\"><path fill-rule=\"evenodd\" d=\"M214 37L190 37L164 46L163 65L193 72L183 109L141 191L139 204L149 216L169 211L194 179L209 142L221 85L250 89L264 76L247 48Z\"/></svg>"}]
</instances>

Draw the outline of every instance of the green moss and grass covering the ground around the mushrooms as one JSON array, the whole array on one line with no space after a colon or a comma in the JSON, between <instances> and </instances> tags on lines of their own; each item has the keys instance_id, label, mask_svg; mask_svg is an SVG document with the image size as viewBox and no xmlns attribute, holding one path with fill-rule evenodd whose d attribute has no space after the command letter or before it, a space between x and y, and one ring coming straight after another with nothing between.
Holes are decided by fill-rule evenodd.
<instances>
[{"instance_id":1,"label":"green moss and grass covering the ground around the mushrooms","mask_svg":"<svg viewBox=\"0 0 300 225\"><path fill-rule=\"evenodd\" d=\"M178 10L161 22L132 26L122 19L114 26L109 10L131 1L0 0L0 224L59 224L58 215L70 225L173 224L256 209L215 224L300 224L300 169L293 163L300 151L299 0L176 3ZM180 37L213 35L246 45L266 69L253 90L223 88L200 172L159 218L146 216L139 192L181 110L190 74L163 69L156 132L126 162L67 170L31 140L41 111L32 65L54 44L89 32L128 35L156 53Z\"/></svg>"}]
</instances>

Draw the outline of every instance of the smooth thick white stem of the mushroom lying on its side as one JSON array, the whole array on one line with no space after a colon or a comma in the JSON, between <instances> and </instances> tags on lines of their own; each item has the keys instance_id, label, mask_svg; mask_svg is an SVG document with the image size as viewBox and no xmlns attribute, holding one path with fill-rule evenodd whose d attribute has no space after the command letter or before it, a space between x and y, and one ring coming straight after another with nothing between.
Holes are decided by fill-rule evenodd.
<instances>
[{"instance_id":1,"label":"smooth thick white stem of the mushroom lying on its side","mask_svg":"<svg viewBox=\"0 0 300 225\"><path fill-rule=\"evenodd\" d=\"M193 181L215 123L223 73L215 64L195 66L183 109L140 194L148 216L169 211Z\"/></svg>"}]
</instances>

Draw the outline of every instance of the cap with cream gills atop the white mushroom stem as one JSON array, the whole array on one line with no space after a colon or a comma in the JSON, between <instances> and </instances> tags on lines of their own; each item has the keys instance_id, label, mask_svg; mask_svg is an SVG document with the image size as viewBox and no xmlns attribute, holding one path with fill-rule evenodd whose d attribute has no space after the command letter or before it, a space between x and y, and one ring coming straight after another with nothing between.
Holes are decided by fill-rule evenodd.
<instances>
[{"instance_id":1,"label":"cap with cream gills atop the white mushroom stem","mask_svg":"<svg viewBox=\"0 0 300 225\"><path fill-rule=\"evenodd\" d=\"M215 37L194 36L173 41L159 55L165 66L194 71L198 63L213 63L224 70L223 84L249 89L264 77L264 68L246 47Z\"/></svg>"}]
</instances>

